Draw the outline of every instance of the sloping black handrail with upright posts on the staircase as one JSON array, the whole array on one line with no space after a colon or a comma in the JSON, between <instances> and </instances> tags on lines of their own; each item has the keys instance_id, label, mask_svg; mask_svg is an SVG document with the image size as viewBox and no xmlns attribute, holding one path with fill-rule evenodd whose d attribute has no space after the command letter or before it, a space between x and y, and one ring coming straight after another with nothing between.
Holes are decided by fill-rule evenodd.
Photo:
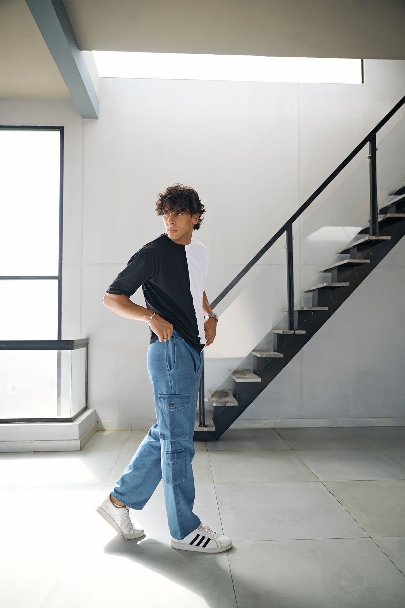
<instances>
[{"instance_id":1,"label":"sloping black handrail with upright posts on the staircase","mask_svg":"<svg viewBox=\"0 0 405 608\"><path fill-rule=\"evenodd\" d=\"M315 190L313 194L304 202L304 204L299 207L296 212L291 215L290 219L287 219L284 226L282 226L279 230L277 230L276 234L271 237L270 241L268 241L262 249L246 264L244 268L236 275L236 277L223 289L222 292L216 297L215 300L210 304L211 308L214 309L215 306L219 304L219 302L228 294L231 289L234 288L236 283L240 281L242 277L247 274L248 271L256 264L257 260L259 260L262 255L270 249L271 245L273 245L279 237L281 237L282 233L286 233L287 238L287 302L288 302L288 329L294 330L294 279L293 279L293 222L299 218L302 212L310 206L311 202L313 202L317 196L327 187L333 179L335 179L336 175L338 175L342 169L345 168L347 164L356 156L356 154L363 148L367 143L369 144L369 152L370 156L368 156L370 160L370 235L378 236L378 201L377 201L377 178L376 178L376 133L381 129L382 126L388 122L388 120L395 114L398 109L401 108L405 103L405 96L400 99L398 103L384 116L383 120L380 120L378 125L376 125L372 131L361 142L348 154L348 156L344 159L343 162L333 171L330 176L325 179L325 181ZM204 366L204 361L202 363ZM204 407L204 367L202 367L202 374L200 379L200 389L199 389L199 427L207 427L205 424L205 407Z\"/></svg>"}]
</instances>

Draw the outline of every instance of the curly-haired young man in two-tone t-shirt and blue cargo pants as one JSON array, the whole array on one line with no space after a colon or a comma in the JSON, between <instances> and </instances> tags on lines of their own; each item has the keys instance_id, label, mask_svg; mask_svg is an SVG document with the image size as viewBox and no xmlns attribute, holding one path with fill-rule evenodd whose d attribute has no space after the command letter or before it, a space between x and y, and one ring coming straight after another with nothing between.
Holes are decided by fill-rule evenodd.
<instances>
[{"instance_id":1,"label":"curly-haired young man in two-tone t-shirt and blue cargo pants","mask_svg":"<svg viewBox=\"0 0 405 608\"><path fill-rule=\"evenodd\" d=\"M123 538L143 536L129 508L141 510L163 477L171 546L217 553L228 550L231 539L204 526L192 511L191 461L203 348L212 344L218 320L205 295L208 250L192 237L205 207L196 190L174 184L158 195L156 213L163 216L165 232L132 255L103 302L120 316L149 324L146 365L157 423L96 510ZM140 285L147 308L129 299Z\"/></svg>"}]
</instances>

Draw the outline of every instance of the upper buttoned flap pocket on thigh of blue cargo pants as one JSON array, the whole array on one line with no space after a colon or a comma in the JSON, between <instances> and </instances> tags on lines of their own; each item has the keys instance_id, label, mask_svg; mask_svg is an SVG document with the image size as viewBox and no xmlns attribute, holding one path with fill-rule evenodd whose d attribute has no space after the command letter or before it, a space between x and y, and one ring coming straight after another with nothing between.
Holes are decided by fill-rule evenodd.
<instances>
[{"instance_id":1,"label":"upper buttoned flap pocket on thigh of blue cargo pants","mask_svg":"<svg viewBox=\"0 0 405 608\"><path fill-rule=\"evenodd\" d=\"M190 439L191 422L189 393L159 395L158 397L158 428L160 439L168 441Z\"/></svg>"}]
</instances>

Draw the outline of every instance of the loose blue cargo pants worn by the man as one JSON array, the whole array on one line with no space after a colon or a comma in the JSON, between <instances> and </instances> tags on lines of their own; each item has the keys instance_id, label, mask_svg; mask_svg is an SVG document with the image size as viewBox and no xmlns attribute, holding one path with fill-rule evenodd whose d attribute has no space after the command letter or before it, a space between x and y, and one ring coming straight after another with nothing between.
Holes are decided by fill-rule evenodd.
<instances>
[{"instance_id":1,"label":"loose blue cargo pants worn by the man","mask_svg":"<svg viewBox=\"0 0 405 608\"><path fill-rule=\"evenodd\" d=\"M203 351L199 353L173 330L166 342L149 344L146 356L157 423L152 424L111 496L132 509L143 509L163 477L169 531L181 540L199 527L192 512L195 489L194 425Z\"/></svg>"}]
</instances>

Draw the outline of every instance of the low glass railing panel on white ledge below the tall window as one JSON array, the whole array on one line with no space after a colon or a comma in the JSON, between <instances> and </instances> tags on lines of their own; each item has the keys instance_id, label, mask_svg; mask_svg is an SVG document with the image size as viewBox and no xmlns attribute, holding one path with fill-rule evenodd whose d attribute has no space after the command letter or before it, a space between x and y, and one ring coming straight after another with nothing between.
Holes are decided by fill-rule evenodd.
<instances>
[{"instance_id":1,"label":"low glass railing panel on white ledge below the tall window","mask_svg":"<svg viewBox=\"0 0 405 608\"><path fill-rule=\"evenodd\" d=\"M2 342L2 422L69 420L87 407L88 342L63 350L48 347L46 340L38 348L39 342L37 348L27 348L25 341Z\"/></svg>"}]
</instances>

